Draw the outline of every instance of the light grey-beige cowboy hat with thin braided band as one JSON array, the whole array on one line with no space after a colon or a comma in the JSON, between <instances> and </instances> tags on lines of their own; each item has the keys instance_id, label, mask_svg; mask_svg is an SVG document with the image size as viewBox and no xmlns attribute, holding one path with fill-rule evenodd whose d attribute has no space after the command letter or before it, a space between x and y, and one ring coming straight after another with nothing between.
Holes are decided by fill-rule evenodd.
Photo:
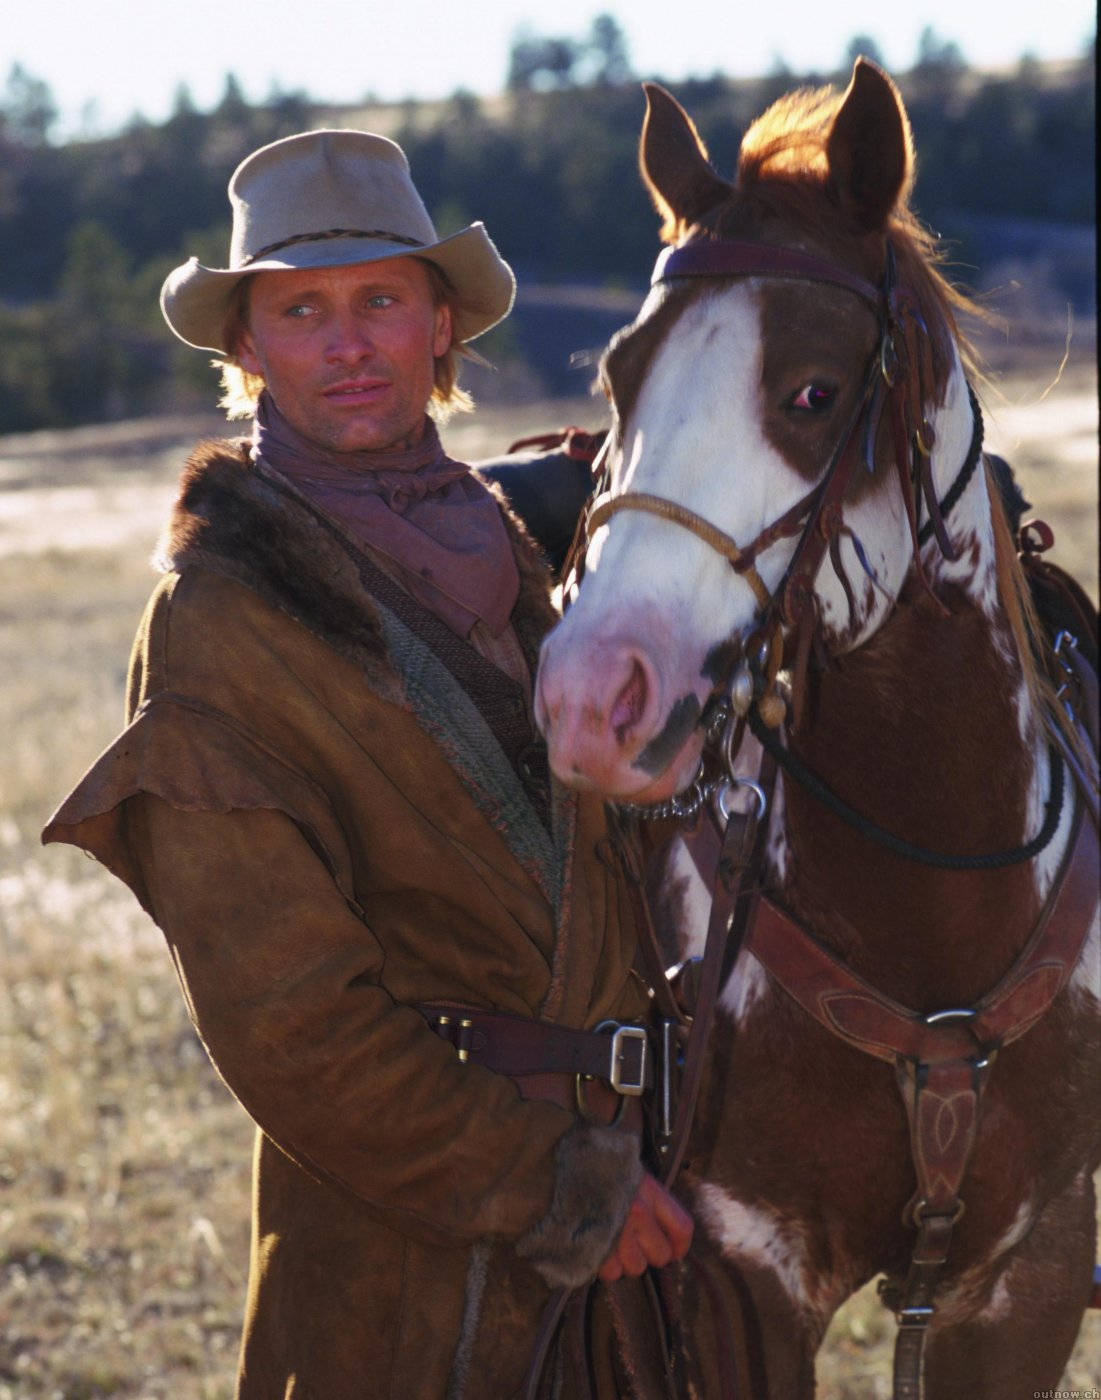
<instances>
[{"instance_id":1,"label":"light grey-beige cowboy hat with thin braided band","mask_svg":"<svg viewBox=\"0 0 1101 1400\"><path fill-rule=\"evenodd\" d=\"M342 267L426 258L455 291L457 343L489 330L513 305L515 277L485 225L438 238L401 146L370 132L287 136L248 155L230 178L230 266L191 258L161 287L161 311L181 340L228 354L233 294L255 272Z\"/></svg>"}]
</instances>

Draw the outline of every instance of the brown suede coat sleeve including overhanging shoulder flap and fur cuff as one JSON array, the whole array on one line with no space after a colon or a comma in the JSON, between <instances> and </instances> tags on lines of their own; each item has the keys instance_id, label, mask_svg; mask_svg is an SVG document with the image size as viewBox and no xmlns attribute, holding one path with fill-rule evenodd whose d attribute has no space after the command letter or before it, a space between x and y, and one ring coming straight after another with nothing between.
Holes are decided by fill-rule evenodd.
<instances>
[{"instance_id":1,"label":"brown suede coat sleeve including overhanging shoulder flap and fur cuff","mask_svg":"<svg viewBox=\"0 0 1101 1400\"><path fill-rule=\"evenodd\" d=\"M83 847L133 889L167 935L219 1072L305 1173L427 1243L534 1229L538 1245L546 1225L565 1266L591 1275L633 1196L636 1144L459 1064L394 1001L326 788L248 706L199 699L165 643L169 599L164 585L139 634L130 724L43 840ZM280 661L269 630L251 616L217 630L212 617L184 609L176 654L202 671L244 648L238 671L262 693L263 666Z\"/></svg>"}]
</instances>

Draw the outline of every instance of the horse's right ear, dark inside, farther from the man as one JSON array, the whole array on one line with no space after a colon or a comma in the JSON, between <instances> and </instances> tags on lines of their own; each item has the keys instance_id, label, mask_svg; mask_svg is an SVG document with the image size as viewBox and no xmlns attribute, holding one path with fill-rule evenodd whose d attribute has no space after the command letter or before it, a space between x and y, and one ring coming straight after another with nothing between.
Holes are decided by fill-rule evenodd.
<instances>
[{"instance_id":1,"label":"horse's right ear, dark inside, farther from the man","mask_svg":"<svg viewBox=\"0 0 1101 1400\"><path fill-rule=\"evenodd\" d=\"M829 188L867 232L884 228L913 172L910 126L898 88L874 63L857 59L826 139Z\"/></svg>"}]
</instances>

